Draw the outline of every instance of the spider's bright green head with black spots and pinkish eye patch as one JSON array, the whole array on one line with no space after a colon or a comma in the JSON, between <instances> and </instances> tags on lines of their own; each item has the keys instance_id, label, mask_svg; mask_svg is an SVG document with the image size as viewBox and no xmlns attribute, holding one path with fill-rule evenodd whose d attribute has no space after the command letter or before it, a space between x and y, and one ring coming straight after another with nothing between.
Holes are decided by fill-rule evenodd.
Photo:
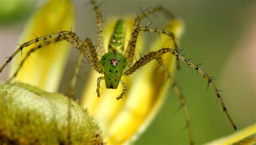
<instances>
[{"instance_id":1,"label":"spider's bright green head with black spots and pinkish eye patch","mask_svg":"<svg viewBox=\"0 0 256 145\"><path fill-rule=\"evenodd\" d=\"M127 61L120 53L106 53L100 60L106 82L106 88L117 89Z\"/></svg>"}]
</instances>

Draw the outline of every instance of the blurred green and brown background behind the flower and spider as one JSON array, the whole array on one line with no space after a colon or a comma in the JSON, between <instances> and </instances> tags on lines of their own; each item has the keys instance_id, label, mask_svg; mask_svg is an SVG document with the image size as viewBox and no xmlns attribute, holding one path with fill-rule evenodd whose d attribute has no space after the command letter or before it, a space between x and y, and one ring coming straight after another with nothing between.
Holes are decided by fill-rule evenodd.
<instances>
[{"instance_id":1,"label":"blurred green and brown background behind the flower and spider","mask_svg":"<svg viewBox=\"0 0 256 145\"><path fill-rule=\"evenodd\" d=\"M26 25L26 21L44 1L0 0L0 64L10 56ZM74 1L77 13L76 33L83 40L86 37L96 41L96 20L89 2ZM183 19L185 32L179 40L180 48L185 48L187 57L193 62L204 62L203 68L210 76L214 76L219 90L222 90L224 103L239 129L256 122L256 1L99 1L104 20L113 16L131 14L136 16L140 9L163 5L175 16ZM68 11L68 10L67 10ZM164 27L163 14L144 19L142 25L153 22L152 27ZM57 27L57 26L56 26ZM57 32L57 30L52 30ZM146 36L150 41L150 37ZM154 37L154 36L153 36ZM69 64L73 65L78 53L72 49ZM146 69L144 67L143 69ZM0 81L8 77L8 68L0 74ZM86 71L83 69L82 71ZM63 83L71 76L66 72ZM152 76L154 77L154 76ZM197 144L218 139L234 133L234 129L217 102L215 93L207 82L197 75L196 70L181 64L174 76L187 98L192 118L194 137ZM83 78L83 79L86 79ZM68 83L66 83L68 84ZM77 90L84 84L77 85ZM59 89L66 93L67 86ZM76 94L79 96L79 93ZM135 144L188 144L183 111L180 102L170 89L165 104L156 119L139 137ZM124 131L125 132L125 131Z\"/></svg>"}]
</instances>

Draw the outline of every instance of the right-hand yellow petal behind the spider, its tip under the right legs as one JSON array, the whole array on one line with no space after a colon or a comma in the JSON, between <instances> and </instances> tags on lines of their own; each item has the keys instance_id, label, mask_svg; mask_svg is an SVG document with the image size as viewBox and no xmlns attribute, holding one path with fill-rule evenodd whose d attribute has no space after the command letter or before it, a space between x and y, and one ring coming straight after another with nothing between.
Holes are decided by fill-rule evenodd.
<instances>
[{"instance_id":1,"label":"right-hand yellow petal behind the spider, its tip under the right legs","mask_svg":"<svg viewBox=\"0 0 256 145\"><path fill-rule=\"evenodd\" d=\"M178 38L182 29L183 23L180 20L173 20L170 21L166 30L173 32ZM173 43L170 37L161 34L160 38L160 40L153 41L150 46L151 50L158 50L167 46L172 47ZM176 58L166 54L163 60L173 74ZM127 92L128 99L116 119L110 124L109 143L122 144L131 138L137 139L159 111L170 84L168 81L166 82L164 74L161 74L163 70L156 70L157 68L159 68L159 64L153 61L146 64L142 70L137 71L135 76L132 76L136 78L131 84L130 91Z\"/></svg>"}]
</instances>

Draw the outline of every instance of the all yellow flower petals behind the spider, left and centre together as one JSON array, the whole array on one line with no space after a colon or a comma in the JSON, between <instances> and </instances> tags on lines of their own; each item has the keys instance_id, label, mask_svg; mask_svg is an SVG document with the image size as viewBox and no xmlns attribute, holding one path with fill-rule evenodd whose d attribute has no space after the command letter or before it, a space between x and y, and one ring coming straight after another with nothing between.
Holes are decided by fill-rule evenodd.
<instances>
[{"instance_id":1,"label":"all yellow flower petals behind the spider, left and centre together","mask_svg":"<svg viewBox=\"0 0 256 145\"><path fill-rule=\"evenodd\" d=\"M37 37L52 34L56 26L62 30L70 30L73 27L73 14L71 1L49 1L33 16L21 42L35 39L35 37L31 37L31 34L35 34ZM127 40L131 37L134 18L125 17L124 19L127 26L125 36L125 40ZM116 20L116 18L111 19L105 25L103 32L105 48L108 46L108 40ZM173 32L176 38L180 38L183 23L178 19L171 20L165 30ZM150 51L163 47L174 48L170 37L165 34L160 34L159 37L160 39L151 40ZM136 56L139 55L138 50L142 53L148 53L147 48L145 48L147 43L149 41L145 41L139 35ZM125 46L127 45L126 42ZM23 55L26 55L29 49L34 46L25 48L22 52ZM19 71L15 81L29 83L47 91L56 91L68 57L68 46L70 46L68 42L58 42L58 44L46 46L33 53ZM21 56L17 56L13 65L15 68L11 69L11 75L19 66L21 59ZM176 57L165 54L163 60L173 75L174 68L176 68ZM102 83L101 96L98 98L94 92L100 74L91 71L88 76L89 80L86 82L79 105L82 108L87 108L89 113L99 122L108 144L123 144L136 140L159 111L170 86L170 83L166 81L163 69L156 61L146 64L135 75L123 76L127 91L126 97L121 100L116 100L116 97L122 92L121 85L118 89L111 90L106 89L105 84Z\"/></svg>"}]
</instances>

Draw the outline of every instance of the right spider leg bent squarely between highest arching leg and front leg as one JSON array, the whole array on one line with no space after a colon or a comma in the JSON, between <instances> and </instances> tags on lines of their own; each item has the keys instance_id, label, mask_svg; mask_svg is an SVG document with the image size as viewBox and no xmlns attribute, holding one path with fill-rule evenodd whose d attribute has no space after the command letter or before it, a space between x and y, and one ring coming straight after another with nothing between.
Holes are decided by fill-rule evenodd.
<instances>
[{"instance_id":1,"label":"right spider leg bent squarely between highest arching leg and front leg","mask_svg":"<svg viewBox=\"0 0 256 145\"><path fill-rule=\"evenodd\" d=\"M131 49L129 50L129 57L127 59L129 64L131 64L132 61L133 61L135 47L136 47L139 32L156 32L156 33L169 35L169 37L173 40L174 49L177 50L177 48L178 48L175 37L174 37L174 34L172 32L165 31L165 30L154 29L154 28L148 28L148 27L138 27L134 30L134 33L132 35L132 41L131 41L131 47L130 47ZM129 68L130 67L131 66L129 66Z\"/></svg>"}]
</instances>

